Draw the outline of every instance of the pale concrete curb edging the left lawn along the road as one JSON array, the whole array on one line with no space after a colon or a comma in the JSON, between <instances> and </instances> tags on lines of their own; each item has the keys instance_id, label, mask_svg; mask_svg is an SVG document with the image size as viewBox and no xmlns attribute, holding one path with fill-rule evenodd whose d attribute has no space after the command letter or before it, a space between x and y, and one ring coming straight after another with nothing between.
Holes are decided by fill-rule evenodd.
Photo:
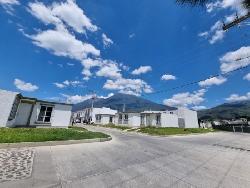
<instances>
[{"instance_id":1,"label":"pale concrete curb edging the left lawn along the road","mask_svg":"<svg viewBox=\"0 0 250 188\"><path fill-rule=\"evenodd\" d=\"M2 143L0 149L8 148L22 148L22 147L39 147L39 146L57 146L57 145L72 145L72 144L83 144L93 142L107 142L112 140L112 137L108 138L94 138L94 139L83 139L83 140L63 140L63 141L46 141L46 142L20 142L20 143Z\"/></svg>"}]
</instances>

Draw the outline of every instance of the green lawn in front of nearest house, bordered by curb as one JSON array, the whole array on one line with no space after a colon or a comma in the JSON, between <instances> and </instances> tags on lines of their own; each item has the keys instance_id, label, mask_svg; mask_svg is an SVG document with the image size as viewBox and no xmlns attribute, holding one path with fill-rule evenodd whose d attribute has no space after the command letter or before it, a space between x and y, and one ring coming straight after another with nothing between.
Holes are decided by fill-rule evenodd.
<instances>
[{"instance_id":1,"label":"green lawn in front of nearest house, bordered by curb","mask_svg":"<svg viewBox=\"0 0 250 188\"><path fill-rule=\"evenodd\" d=\"M0 143L44 142L107 138L109 135L90 132L81 127L60 128L0 128Z\"/></svg>"}]
</instances>

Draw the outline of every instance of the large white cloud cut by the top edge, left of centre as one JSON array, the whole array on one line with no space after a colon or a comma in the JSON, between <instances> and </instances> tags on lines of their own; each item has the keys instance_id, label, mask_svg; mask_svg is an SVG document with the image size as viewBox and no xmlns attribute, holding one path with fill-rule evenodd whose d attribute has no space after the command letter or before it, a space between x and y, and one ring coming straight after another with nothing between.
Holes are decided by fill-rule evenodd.
<instances>
[{"instance_id":1,"label":"large white cloud cut by the top edge, left of centre","mask_svg":"<svg viewBox=\"0 0 250 188\"><path fill-rule=\"evenodd\" d=\"M42 2L29 3L29 12L45 24L58 26L65 23L79 33L85 33L85 30L94 32L98 29L73 0L54 2L51 6Z\"/></svg>"}]
</instances>

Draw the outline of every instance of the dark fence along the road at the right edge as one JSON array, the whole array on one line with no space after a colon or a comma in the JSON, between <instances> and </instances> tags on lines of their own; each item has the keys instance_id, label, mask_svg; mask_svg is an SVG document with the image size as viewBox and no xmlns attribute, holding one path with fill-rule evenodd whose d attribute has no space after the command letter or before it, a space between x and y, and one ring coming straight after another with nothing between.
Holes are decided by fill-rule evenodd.
<instances>
[{"instance_id":1,"label":"dark fence along the road at the right edge","mask_svg":"<svg viewBox=\"0 0 250 188\"><path fill-rule=\"evenodd\" d=\"M230 132L242 132L242 133L250 133L250 126L249 125L213 125L214 129L219 129L223 131L230 131Z\"/></svg>"}]
</instances>

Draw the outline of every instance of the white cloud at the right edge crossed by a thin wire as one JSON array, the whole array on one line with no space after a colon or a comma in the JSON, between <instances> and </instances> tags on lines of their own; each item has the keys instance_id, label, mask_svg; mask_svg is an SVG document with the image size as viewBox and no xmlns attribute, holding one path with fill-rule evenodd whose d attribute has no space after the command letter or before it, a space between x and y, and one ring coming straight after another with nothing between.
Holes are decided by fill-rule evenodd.
<instances>
[{"instance_id":1,"label":"white cloud at the right edge crossed by a thin wire","mask_svg":"<svg viewBox=\"0 0 250 188\"><path fill-rule=\"evenodd\" d=\"M220 58L220 69L223 73L250 65L250 46L226 53Z\"/></svg>"}]
</instances>

